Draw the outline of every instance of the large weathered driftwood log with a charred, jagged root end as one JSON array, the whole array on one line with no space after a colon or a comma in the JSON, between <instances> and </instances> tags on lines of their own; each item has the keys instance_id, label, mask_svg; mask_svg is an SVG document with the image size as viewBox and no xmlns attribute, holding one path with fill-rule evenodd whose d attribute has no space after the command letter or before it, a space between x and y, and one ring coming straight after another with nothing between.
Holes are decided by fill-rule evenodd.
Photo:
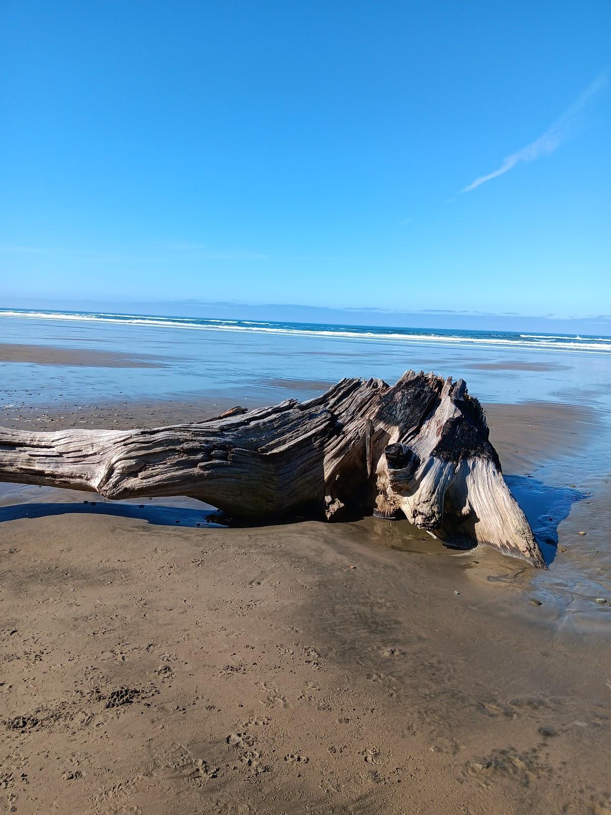
<instances>
[{"instance_id":1,"label":"large weathered driftwood log with a charred, jagged root end","mask_svg":"<svg viewBox=\"0 0 611 815\"><path fill-rule=\"evenodd\" d=\"M0 429L0 481L191 496L233 518L405 515L447 544L545 567L463 380L343 379L308 402L228 414L152 430Z\"/></svg>"}]
</instances>

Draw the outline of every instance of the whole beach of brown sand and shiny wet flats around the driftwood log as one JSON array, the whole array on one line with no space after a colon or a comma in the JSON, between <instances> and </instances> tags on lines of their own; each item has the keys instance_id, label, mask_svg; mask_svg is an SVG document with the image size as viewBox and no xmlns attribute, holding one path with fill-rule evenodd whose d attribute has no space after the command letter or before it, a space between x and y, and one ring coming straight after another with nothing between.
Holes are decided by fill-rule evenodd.
<instances>
[{"instance_id":1,"label":"whole beach of brown sand and shiny wet flats around the driftwood log","mask_svg":"<svg viewBox=\"0 0 611 815\"><path fill-rule=\"evenodd\" d=\"M407 521L226 527L190 499L0 485L0 812L611 813L611 357L3 324L20 429L464 376L549 568Z\"/></svg>"}]
</instances>

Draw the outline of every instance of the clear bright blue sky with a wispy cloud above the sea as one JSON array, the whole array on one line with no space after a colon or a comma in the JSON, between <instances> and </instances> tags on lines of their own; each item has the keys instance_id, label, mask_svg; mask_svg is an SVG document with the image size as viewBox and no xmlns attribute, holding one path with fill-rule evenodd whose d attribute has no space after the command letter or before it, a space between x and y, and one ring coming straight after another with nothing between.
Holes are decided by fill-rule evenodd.
<instances>
[{"instance_id":1,"label":"clear bright blue sky with a wispy cloud above the sea","mask_svg":"<svg viewBox=\"0 0 611 815\"><path fill-rule=\"evenodd\" d=\"M608 2L0 8L0 306L611 314Z\"/></svg>"}]
</instances>

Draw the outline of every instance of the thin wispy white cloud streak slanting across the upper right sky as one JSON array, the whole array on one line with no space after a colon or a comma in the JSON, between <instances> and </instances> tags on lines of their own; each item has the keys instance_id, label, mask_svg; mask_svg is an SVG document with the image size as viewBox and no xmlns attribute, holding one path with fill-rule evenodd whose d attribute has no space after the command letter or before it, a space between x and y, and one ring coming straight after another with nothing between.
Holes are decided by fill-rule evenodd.
<instances>
[{"instance_id":1,"label":"thin wispy white cloud streak slanting across the upper right sky","mask_svg":"<svg viewBox=\"0 0 611 815\"><path fill-rule=\"evenodd\" d=\"M534 142L527 144L525 148L503 159L503 163L498 170L487 175L481 175L460 192L471 192L476 189L476 187L481 187L481 184L485 184L486 181L491 181L492 178L498 178L499 175L503 175L503 173L507 173L508 170L512 170L512 167L515 167L516 164L519 164L521 161L534 161L540 156L549 156L552 152L555 152L560 147L560 144L569 138L570 132L577 124L583 110L606 88L608 83L609 68L605 68L604 71L578 95L574 103L556 119L553 125L547 128L543 135L539 136L538 139L534 139Z\"/></svg>"}]
</instances>

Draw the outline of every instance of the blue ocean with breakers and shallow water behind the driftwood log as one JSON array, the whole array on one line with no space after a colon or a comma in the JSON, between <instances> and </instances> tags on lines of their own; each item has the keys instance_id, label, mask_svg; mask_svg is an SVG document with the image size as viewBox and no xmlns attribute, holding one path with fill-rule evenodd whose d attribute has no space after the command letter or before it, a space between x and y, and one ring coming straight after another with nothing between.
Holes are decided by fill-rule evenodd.
<instances>
[{"instance_id":1,"label":"blue ocean with breakers and shallow water behind the driftwood log","mask_svg":"<svg viewBox=\"0 0 611 815\"><path fill-rule=\"evenodd\" d=\"M205 396L248 407L307 399L342 377L392 382L409 368L463 377L484 402L604 408L611 391L611 337L600 336L4 309L0 342L3 406ZM103 358L32 361L15 346Z\"/></svg>"}]
</instances>

